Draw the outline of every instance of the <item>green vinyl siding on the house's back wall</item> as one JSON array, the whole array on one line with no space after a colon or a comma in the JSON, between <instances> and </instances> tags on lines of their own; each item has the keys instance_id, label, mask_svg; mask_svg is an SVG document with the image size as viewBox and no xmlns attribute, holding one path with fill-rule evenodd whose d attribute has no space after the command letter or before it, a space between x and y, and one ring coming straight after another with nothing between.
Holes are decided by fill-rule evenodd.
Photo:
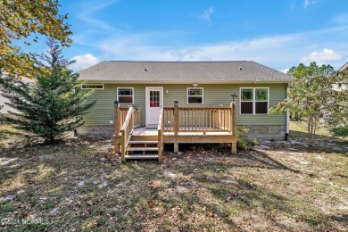
<instances>
[{"instance_id":1,"label":"green vinyl siding on the house's back wall","mask_svg":"<svg viewBox=\"0 0 348 232\"><path fill-rule=\"evenodd\" d=\"M96 100L95 106L85 115L85 126L105 126L113 120L113 104L116 100L117 87L134 87L134 104L121 104L121 106L133 105L140 107L141 123L145 125L145 87L163 87L164 107L172 107L174 101L178 101L179 106L226 106L232 102L232 93L238 93L236 101L236 124L237 125L286 125L286 115L276 114L239 114L239 88L240 87L269 87L269 107L278 104L286 98L287 84L258 84L258 85L199 85L203 87L204 104L187 104L187 87L192 85L118 85L104 84L104 89L95 90L91 95L90 101ZM166 92L168 91L168 94Z\"/></svg>"}]
</instances>

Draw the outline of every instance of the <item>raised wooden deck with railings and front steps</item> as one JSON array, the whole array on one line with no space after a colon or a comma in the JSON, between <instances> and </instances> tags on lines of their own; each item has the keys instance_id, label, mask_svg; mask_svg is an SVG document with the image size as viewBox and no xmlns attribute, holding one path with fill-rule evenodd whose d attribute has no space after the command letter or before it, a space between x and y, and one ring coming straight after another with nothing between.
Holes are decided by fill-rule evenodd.
<instances>
[{"instance_id":1,"label":"raised wooden deck with railings and front steps","mask_svg":"<svg viewBox=\"0 0 348 232\"><path fill-rule=\"evenodd\" d=\"M231 145L236 153L236 104L230 107L164 107L157 125L140 127L140 109L120 108L115 102L115 153L127 159L158 159L164 144Z\"/></svg>"}]
</instances>

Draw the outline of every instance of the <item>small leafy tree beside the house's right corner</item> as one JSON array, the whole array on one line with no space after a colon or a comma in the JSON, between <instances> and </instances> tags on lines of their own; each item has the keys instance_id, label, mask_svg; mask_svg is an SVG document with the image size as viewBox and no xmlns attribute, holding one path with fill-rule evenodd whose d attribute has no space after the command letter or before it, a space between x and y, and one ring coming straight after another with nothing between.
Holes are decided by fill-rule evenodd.
<instances>
[{"instance_id":1,"label":"small leafy tree beside the house's right corner","mask_svg":"<svg viewBox=\"0 0 348 232\"><path fill-rule=\"evenodd\" d=\"M270 112L289 112L291 118L304 120L310 146L332 97L332 72L332 66L319 67L316 62L311 62L308 67L300 63L291 68L287 74L297 80L290 85L288 99L270 109Z\"/></svg>"}]
</instances>

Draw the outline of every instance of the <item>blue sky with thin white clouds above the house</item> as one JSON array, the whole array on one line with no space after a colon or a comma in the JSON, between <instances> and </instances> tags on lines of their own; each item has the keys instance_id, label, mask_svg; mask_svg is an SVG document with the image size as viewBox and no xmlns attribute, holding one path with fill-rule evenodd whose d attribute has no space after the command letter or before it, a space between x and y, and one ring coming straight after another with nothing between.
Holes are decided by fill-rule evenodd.
<instances>
[{"instance_id":1,"label":"blue sky with thin white clouds above the house","mask_svg":"<svg viewBox=\"0 0 348 232\"><path fill-rule=\"evenodd\" d=\"M104 60L348 62L347 0L63 0L85 69ZM43 43L28 48L40 53Z\"/></svg>"}]
</instances>

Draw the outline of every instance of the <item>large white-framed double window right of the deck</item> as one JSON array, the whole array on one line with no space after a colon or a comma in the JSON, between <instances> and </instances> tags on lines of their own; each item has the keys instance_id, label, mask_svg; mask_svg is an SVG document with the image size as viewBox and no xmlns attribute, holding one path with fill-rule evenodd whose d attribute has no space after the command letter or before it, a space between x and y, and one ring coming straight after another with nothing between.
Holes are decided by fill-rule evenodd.
<instances>
[{"instance_id":1,"label":"large white-framed double window right of the deck","mask_svg":"<svg viewBox=\"0 0 348 232\"><path fill-rule=\"evenodd\" d=\"M243 87L240 89L240 96L241 114L269 112L268 87Z\"/></svg>"}]
</instances>

